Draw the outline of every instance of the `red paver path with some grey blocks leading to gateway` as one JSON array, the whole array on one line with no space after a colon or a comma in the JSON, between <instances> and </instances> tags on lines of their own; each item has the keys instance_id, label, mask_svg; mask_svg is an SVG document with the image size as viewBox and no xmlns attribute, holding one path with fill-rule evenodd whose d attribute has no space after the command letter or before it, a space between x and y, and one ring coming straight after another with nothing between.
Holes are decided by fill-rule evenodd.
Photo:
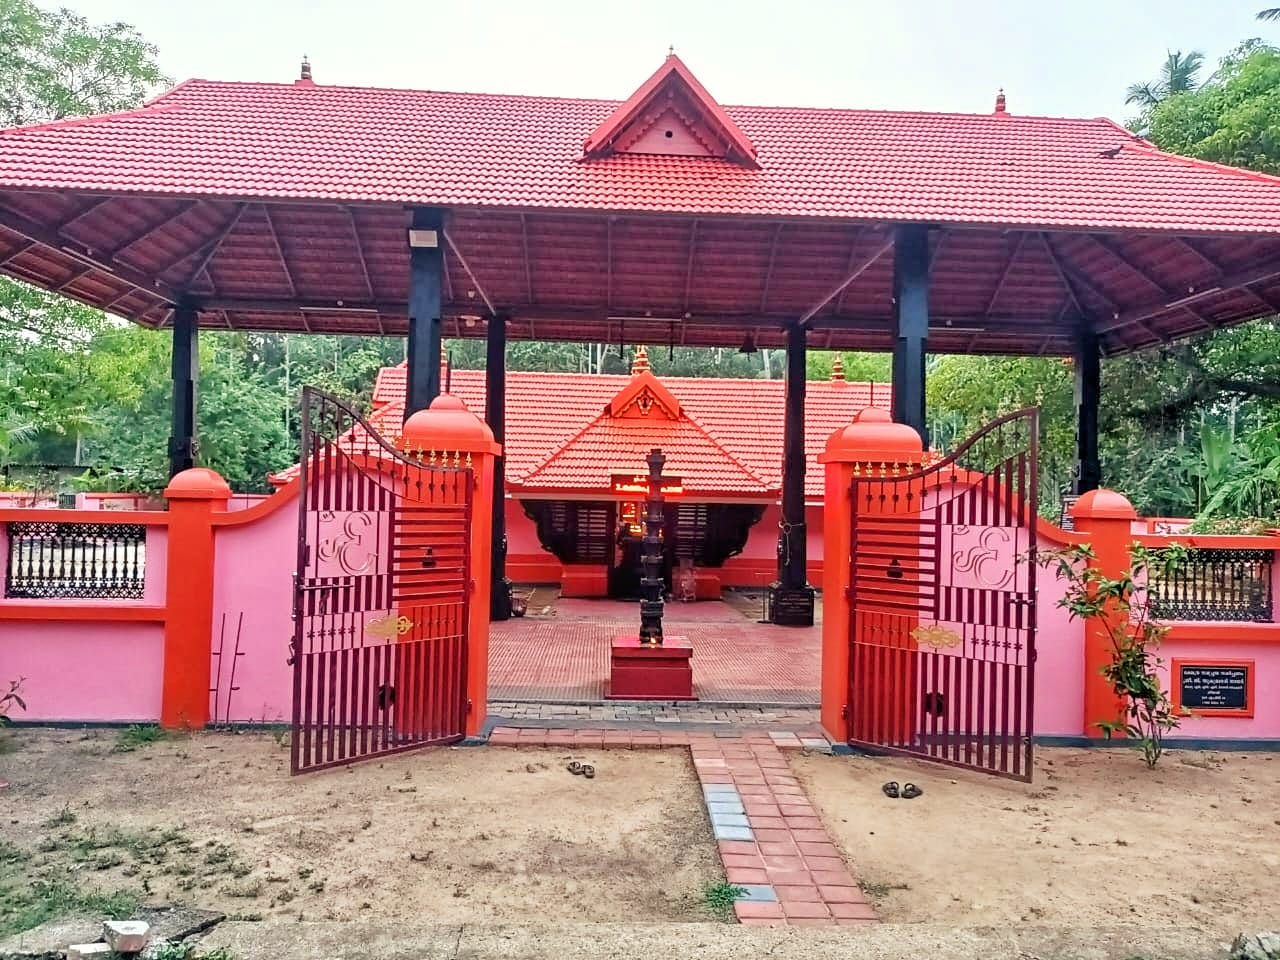
<instances>
[{"instance_id":1,"label":"red paver path with some grey blocks leading to gateway","mask_svg":"<svg viewBox=\"0 0 1280 960\"><path fill-rule=\"evenodd\" d=\"M724 876L746 890L746 896L733 905L741 923L804 927L877 923L874 909L787 767L782 749L799 749L797 737L645 733L497 727L489 744L579 749L687 745Z\"/></svg>"}]
</instances>

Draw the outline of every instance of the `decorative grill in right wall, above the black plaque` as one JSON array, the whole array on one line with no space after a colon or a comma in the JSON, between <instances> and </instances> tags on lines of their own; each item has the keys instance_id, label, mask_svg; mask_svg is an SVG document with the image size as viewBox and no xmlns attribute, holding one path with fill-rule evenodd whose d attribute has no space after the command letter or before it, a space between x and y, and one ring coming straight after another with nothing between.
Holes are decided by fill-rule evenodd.
<instances>
[{"instance_id":1,"label":"decorative grill in right wall, above the black plaque","mask_svg":"<svg viewBox=\"0 0 1280 960\"><path fill-rule=\"evenodd\" d=\"M1147 585L1157 620L1271 622L1271 550L1194 549Z\"/></svg>"}]
</instances>

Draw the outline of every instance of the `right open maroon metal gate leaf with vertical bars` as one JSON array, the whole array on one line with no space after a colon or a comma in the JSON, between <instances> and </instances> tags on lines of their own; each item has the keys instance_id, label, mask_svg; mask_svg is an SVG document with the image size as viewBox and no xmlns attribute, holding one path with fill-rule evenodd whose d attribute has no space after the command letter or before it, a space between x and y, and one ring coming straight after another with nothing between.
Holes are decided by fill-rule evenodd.
<instances>
[{"instance_id":1,"label":"right open maroon metal gate leaf with vertical bars","mask_svg":"<svg viewBox=\"0 0 1280 960\"><path fill-rule=\"evenodd\" d=\"M852 481L849 740L1029 781L1038 413Z\"/></svg>"}]
</instances>

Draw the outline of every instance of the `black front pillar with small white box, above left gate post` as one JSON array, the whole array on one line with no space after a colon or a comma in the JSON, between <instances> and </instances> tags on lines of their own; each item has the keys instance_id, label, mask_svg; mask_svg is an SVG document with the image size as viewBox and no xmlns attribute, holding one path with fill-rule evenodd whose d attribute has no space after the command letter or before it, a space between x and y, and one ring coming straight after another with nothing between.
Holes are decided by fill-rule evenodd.
<instances>
[{"instance_id":1,"label":"black front pillar with small white box, above left gate post","mask_svg":"<svg viewBox=\"0 0 1280 960\"><path fill-rule=\"evenodd\" d=\"M440 278L444 230L439 210L416 209L408 232L408 371L404 419L440 396Z\"/></svg>"}]
</instances>

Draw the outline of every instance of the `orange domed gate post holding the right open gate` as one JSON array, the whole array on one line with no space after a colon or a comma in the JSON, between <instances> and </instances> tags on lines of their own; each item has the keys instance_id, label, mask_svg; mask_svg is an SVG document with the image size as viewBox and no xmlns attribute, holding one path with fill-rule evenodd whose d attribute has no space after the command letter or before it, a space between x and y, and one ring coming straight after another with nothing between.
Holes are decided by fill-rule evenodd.
<instances>
[{"instance_id":1,"label":"orange domed gate post holding the right open gate","mask_svg":"<svg viewBox=\"0 0 1280 960\"><path fill-rule=\"evenodd\" d=\"M826 467L820 721L823 731L835 742L849 742L850 726L854 476L884 470L890 465L896 470L914 470L923 457L920 435L905 424L891 422L888 413L878 408L860 411L849 426L828 438L826 449L818 456L818 462Z\"/></svg>"}]
</instances>

